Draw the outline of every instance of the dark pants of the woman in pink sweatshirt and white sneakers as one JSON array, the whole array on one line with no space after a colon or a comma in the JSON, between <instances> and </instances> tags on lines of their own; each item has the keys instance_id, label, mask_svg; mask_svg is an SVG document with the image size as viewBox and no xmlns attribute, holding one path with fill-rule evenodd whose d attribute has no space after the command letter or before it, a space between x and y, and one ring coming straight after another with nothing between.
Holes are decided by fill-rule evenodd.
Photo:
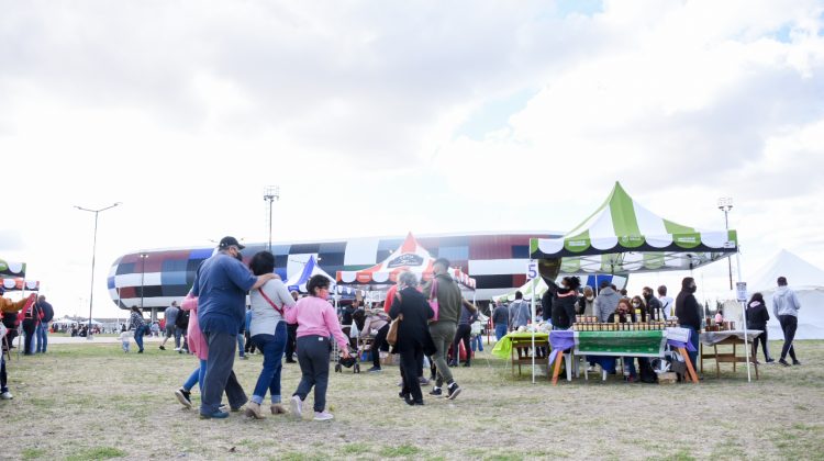
<instances>
[{"instance_id":1,"label":"dark pants of the woman in pink sweatshirt and white sneakers","mask_svg":"<svg viewBox=\"0 0 824 461\"><path fill-rule=\"evenodd\" d=\"M301 401L314 387L314 411L320 413L326 407L326 387L329 387L329 338L322 336L302 336L298 338L298 362L301 379L294 394Z\"/></svg>"}]
</instances>

